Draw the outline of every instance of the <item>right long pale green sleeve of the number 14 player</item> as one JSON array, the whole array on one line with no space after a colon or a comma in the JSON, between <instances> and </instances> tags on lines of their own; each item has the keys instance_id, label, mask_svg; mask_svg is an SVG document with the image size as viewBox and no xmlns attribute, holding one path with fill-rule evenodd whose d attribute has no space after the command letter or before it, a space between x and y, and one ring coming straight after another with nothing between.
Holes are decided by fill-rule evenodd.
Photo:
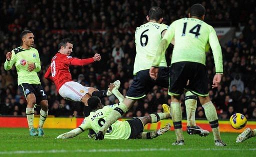
<instances>
[{"instance_id":1,"label":"right long pale green sleeve of the number 14 player","mask_svg":"<svg viewBox=\"0 0 256 157\"><path fill-rule=\"evenodd\" d=\"M222 52L221 47L218 42L218 37L213 27L210 28L209 33L209 44L212 50L214 64L215 64L215 71L216 73L223 73L223 60L222 60Z\"/></svg>"}]
</instances>

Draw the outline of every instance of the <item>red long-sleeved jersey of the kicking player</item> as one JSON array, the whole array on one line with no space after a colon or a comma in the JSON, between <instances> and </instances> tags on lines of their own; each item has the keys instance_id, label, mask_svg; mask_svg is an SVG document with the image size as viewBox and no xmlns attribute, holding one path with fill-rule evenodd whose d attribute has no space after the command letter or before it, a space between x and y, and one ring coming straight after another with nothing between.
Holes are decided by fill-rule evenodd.
<instances>
[{"instance_id":1,"label":"red long-sleeved jersey of the kicking player","mask_svg":"<svg viewBox=\"0 0 256 157\"><path fill-rule=\"evenodd\" d=\"M50 66L44 74L44 77L53 81L58 91L64 83L72 81L69 65L82 66L92 62L94 62L93 57L88 59L77 59L58 52L51 59Z\"/></svg>"}]
</instances>

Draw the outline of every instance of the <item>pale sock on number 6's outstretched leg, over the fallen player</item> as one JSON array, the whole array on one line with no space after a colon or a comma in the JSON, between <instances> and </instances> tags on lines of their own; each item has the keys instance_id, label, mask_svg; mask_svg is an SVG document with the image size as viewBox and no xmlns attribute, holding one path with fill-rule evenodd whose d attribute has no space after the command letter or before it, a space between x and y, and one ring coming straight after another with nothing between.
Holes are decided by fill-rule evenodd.
<instances>
[{"instance_id":1,"label":"pale sock on number 6's outstretched leg, over the fallen player","mask_svg":"<svg viewBox=\"0 0 256 157\"><path fill-rule=\"evenodd\" d=\"M103 132L103 134L106 133L107 129L116 122L121 116L127 112L128 109L125 104L120 103L118 107L114 108L114 110L110 113L111 116L108 116L106 119L104 125L100 128L99 131Z\"/></svg>"}]
</instances>

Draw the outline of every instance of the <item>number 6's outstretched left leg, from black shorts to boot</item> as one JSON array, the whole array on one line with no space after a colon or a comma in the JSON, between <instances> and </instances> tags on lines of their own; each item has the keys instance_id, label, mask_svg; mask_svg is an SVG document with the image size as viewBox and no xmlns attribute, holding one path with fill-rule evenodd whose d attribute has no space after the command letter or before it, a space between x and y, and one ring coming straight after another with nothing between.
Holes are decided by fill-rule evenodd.
<instances>
[{"instance_id":1,"label":"number 6's outstretched left leg, from black shorts to boot","mask_svg":"<svg viewBox=\"0 0 256 157\"><path fill-rule=\"evenodd\" d=\"M106 122L96 134L95 140L102 140L109 126L120 118L123 113L127 112L137 99L145 97L145 94L151 85L148 84L150 80L149 70L137 72L137 74L133 77L132 84L127 91L123 103L119 103L119 106L112 111L110 114L111 116L106 119Z\"/></svg>"}]
</instances>

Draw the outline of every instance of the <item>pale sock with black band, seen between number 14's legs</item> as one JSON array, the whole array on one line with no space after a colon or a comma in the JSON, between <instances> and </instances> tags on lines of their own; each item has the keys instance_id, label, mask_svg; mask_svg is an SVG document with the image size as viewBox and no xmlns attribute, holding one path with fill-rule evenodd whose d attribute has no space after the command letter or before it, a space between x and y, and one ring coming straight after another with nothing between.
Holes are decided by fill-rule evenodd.
<instances>
[{"instance_id":1,"label":"pale sock with black band, seen between number 14's legs","mask_svg":"<svg viewBox=\"0 0 256 157\"><path fill-rule=\"evenodd\" d=\"M197 105L197 97L190 91L185 94L185 106L186 106L186 119L187 126L194 127L195 124L195 110Z\"/></svg>"}]
</instances>

